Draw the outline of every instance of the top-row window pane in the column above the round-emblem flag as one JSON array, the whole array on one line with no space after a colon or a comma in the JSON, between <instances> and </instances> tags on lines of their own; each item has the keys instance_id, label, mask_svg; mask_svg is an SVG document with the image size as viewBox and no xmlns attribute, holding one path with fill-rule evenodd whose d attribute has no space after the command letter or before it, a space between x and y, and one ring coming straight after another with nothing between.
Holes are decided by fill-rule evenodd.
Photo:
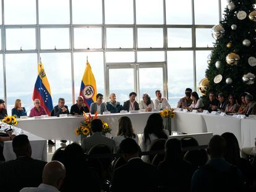
<instances>
[{"instance_id":1,"label":"top-row window pane in the column above the round-emblem flag","mask_svg":"<svg viewBox=\"0 0 256 192\"><path fill-rule=\"evenodd\" d=\"M102 0L72 1L72 21L74 24L101 24Z\"/></svg>"}]
</instances>

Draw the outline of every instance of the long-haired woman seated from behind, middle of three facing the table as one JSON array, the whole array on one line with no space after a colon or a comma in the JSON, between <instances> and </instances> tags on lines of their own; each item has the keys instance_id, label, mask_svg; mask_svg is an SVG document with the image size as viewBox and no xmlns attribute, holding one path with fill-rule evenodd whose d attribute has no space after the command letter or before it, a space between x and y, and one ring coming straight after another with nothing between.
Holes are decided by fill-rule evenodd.
<instances>
[{"instance_id":1,"label":"long-haired woman seated from behind, middle of three facing the table","mask_svg":"<svg viewBox=\"0 0 256 192\"><path fill-rule=\"evenodd\" d=\"M122 140L126 138L132 138L136 141L136 143L139 143L139 138L136 134L134 134L134 130L132 129L132 122L130 121L130 118L127 116L121 117L118 120L119 127L117 136L114 136L114 152L119 151L119 144Z\"/></svg>"}]
</instances>

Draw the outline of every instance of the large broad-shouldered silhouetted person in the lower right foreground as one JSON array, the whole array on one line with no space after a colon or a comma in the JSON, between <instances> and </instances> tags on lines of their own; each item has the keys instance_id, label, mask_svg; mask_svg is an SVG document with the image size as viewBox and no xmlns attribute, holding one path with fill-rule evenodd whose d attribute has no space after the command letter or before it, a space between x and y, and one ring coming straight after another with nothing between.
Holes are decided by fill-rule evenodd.
<instances>
[{"instance_id":1,"label":"large broad-shouldered silhouetted person in the lower right foreground","mask_svg":"<svg viewBox=\"0 0 256 192\"><path fill-rule=\"evenodd\" d=\"M224 159L226 145L226 140L220 135L211 138L207 149L210 160L195 171L191 192L243 191L242 173Z\"/></svg>"}]
</instances>

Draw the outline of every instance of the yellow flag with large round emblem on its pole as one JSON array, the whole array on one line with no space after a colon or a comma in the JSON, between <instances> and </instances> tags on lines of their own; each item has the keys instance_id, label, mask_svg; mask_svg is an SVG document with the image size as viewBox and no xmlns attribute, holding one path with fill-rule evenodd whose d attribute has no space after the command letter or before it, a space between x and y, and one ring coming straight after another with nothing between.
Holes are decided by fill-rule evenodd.
<instances>
[{"instance_id":1,"label":"yellow flag with large round emblem on its pole","mask_svg":"<svg viewBox=\"0 0 256 192\"><path fill-rule=\"evenodd\" d=\"M96 94L96 81L92 73L91 65L87 61L86 69L83 73L79 96L83 97L84 103L87 105L88 109L90 109L91 103L96 101Z\"/></svg>"}]
</instances>

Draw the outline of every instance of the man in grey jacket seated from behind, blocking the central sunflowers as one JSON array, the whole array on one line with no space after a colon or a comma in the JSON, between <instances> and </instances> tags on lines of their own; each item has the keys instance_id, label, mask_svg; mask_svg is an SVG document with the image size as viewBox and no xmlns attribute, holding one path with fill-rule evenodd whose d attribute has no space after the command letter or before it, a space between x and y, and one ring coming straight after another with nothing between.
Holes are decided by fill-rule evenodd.
<instances>
[{"instance_id":1,"label":"man in grey jacket seated from behind, blocking the central sunflowers","mask_svg":"<svg viewBox=\"0 0 256 192\"><path fill-rule=\"evenodd\" d=\"M107 138L102 135L101 131L103 129L103 123L100 119L93 119L91 123L91 129L93 132L92 136L84 138L82 140L82 148L84 152L89 152L90 149L95 146L95 144L103 143L106 144L111 151L114 149L114 140Z\"/></svg>"}]
</instances>

